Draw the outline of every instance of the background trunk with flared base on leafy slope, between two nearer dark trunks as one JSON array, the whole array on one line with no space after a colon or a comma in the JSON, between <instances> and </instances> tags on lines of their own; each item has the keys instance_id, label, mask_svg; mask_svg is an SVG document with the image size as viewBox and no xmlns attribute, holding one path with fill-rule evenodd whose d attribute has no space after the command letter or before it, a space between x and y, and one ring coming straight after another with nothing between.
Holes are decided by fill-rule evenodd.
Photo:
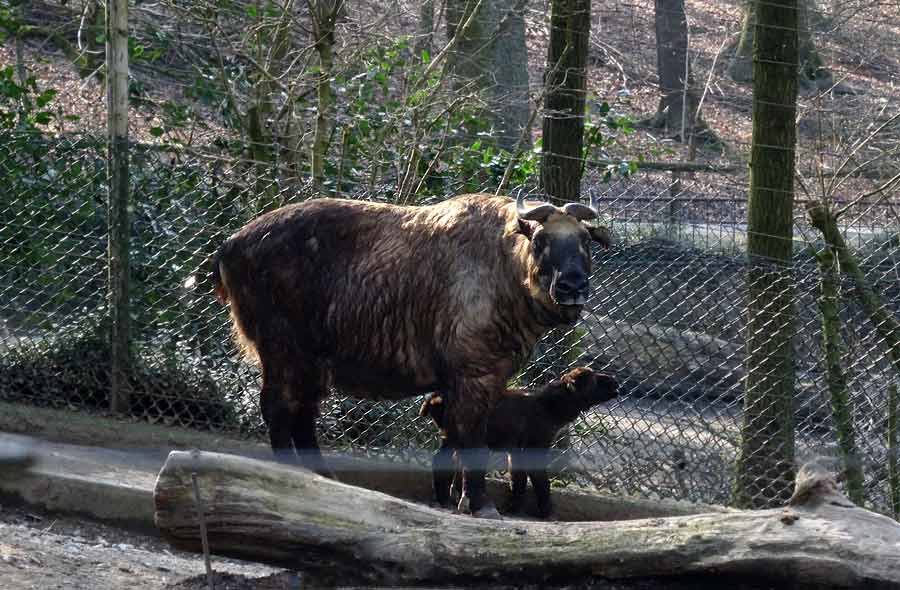
<instances>
[{"instance_id":1,"label":"background trunk with flared base on leafy slope, between two nearer dark trunks","mask_svg":"<svg viewBox=\"0 0 900 590\"><path fill-rule=\"evenodd\" d=\"M708 129L698 112L700 93L688 55L684 0L656 0L654 7L660 100L651 124L665 129L667 136L687 143L695 130L706 136Z\"/></svg>"}]
</instances>

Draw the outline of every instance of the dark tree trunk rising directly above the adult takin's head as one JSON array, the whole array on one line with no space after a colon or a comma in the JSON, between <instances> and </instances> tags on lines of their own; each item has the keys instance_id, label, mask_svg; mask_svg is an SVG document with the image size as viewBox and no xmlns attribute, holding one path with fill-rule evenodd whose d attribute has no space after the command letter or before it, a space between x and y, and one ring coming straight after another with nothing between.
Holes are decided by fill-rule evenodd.
<instances>
[{"instance_id":1,"label":"dark tree trunk rising directly above the adult takin's head","mask_svg":"<svg viewBox=\"0 0 900 590\"><path fill-rule=\"evenodd\" d=\"M541 187L555 201L581 195L590 17L591 0L551 0Z\"/></svg>"}]
</instances>

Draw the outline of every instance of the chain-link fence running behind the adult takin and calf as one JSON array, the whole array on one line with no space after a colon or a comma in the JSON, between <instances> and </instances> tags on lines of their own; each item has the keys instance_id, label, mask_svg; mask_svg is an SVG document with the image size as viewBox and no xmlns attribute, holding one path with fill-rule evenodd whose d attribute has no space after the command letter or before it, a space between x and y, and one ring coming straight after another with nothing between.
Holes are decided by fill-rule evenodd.
<instances>
[{"instance_id":1,"label":"chain-link fence running behind the adult takin and calf","mask_svg":"<svg viewBox=\"0 0 900 590\"><path fill-rule=\"evenodd\" d=\"M0 137L3 400L98 413L109 406L104 150L85 136ZM131 170L130 413L264 437L258 375L237 355L227 310L212 297L203 269L227 235L262 211L307 198L309 189L277 168L159 146L133 146ZM795 429L785 444L795 445L798 461L840 456L823 365L817 245L798 240L787 271L751 263L746 203L695 196L701 180L681 179L677 193L663 173L596 187L614 247L595 253L594 294L583 319L544 338L519 376L522 385L538 386L590 366L621 383L618 400L561 434L560 485L731 502L751 264L764 271L752 276L767 282L788 273L793 291ZM885 223L891 207L859 203L843 230L867 280L900 313L897 226ZM798 210L798 223L804 218ZM866 503L890 512L888 404L896 372L855 285L842 277L839 286L852 460L864 474ZM323 405L320 437L335 449L427 461L437 440L433 425L418 417L420 403L337 393Z\"/></svg>"}]
</instances>

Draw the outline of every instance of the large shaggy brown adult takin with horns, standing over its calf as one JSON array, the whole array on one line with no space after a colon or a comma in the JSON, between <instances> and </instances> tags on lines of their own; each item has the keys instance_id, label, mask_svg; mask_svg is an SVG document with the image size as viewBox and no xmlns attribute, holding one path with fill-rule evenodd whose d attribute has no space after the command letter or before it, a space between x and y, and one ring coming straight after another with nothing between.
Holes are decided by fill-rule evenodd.
<instances>
[{"instance_id":1,"label":"large shaggy brown adult takin with horns, standing over its calf","mask_svg":"<svg viewBox=\"0 0 900 590\"><path fill-rule=\"evenodd\" d=\"M213 258L219 301L260 365L277 459L330 473L315 434L330 387L369 399L440 391L463 468L461 507L484 506L487 416L550 329L587 301L597 205L488 194L429 206L317 198L265 213Z\"/></svg>"}]
</instances>

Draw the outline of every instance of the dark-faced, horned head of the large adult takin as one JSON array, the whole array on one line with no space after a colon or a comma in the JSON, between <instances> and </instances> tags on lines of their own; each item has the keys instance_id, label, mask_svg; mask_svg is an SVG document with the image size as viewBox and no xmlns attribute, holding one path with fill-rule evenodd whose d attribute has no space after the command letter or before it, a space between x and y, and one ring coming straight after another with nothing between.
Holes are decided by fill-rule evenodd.
<instances>
[{"instance_id":1,"label":"dark-faced, horned head of the large adult takin","mask_svg":"<svg viewBox=\"0 0 900 590\"><path fill-rule=\"evenodd\" d=\"M590 291L593 240L609 247L609 231L584 222L599 213L592 196L591 205L566 203L525 204L522 192L516 197L519 231L531 241L536 282L542 292L559 308L564 322L573 323L581 314Z\"/></svg>"}]
</instances>

